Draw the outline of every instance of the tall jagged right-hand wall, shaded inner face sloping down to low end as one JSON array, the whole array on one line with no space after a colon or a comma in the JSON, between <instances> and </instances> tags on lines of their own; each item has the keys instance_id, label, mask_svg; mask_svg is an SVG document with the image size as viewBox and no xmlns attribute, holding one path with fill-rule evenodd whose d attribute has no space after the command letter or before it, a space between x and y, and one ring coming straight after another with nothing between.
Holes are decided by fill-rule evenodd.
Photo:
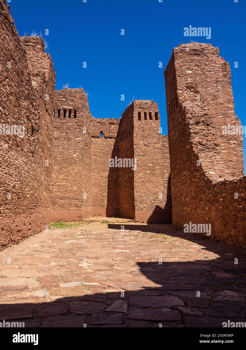
<instances>
[{"instance_id":1,"label":"tall jagged right-hand wall, shaded inner face sloping down to low end","mask_svg":"<svg viewBox=\"0 0 246 350\"><path fill-rule=\"evenodd\" d=\"M245 245L243 138L222 133L223 126L241 125L230 66L211 44L182 44L165 83L174 227L211 224L210 237Z\"/></svg>"}]
</instances>

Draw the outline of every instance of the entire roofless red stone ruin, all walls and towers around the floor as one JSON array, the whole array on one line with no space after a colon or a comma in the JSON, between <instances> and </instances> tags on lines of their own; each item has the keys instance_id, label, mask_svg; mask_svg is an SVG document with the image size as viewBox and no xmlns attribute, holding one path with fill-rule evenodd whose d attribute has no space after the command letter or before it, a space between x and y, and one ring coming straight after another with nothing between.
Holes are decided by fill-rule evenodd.
<instances>
[{"instance_id":1,"label":"entire roofless red stone ruin, all walls and towers around the floor","mask_svg":"<svg viewBox=\"0 0 246 350\"><path fill-rule=\"evenodd\" d=\"M243 135L222 133L241 123L218 48L173 49L167 136L154 101L93 118L83 89L55 90L42 38L19 37L4 0L0 17L0 250L91 215L211 224L210 238L246 246Z\"/></svg>"}]
</instances>

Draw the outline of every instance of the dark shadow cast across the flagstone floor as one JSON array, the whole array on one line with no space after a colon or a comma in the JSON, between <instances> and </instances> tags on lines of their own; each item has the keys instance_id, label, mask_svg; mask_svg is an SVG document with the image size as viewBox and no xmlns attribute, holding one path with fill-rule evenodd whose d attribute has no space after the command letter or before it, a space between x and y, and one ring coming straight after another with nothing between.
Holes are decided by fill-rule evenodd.
<instances>
[{"instance_id":1,"label":"dark shadow cast across the flagstone floor","mask_svg":"<svg viewBox=\"0 0 246 350\"><path fill-rule=\"evenodd\" d=\"M113 229L118 226L120 229L120 225L108 225ZM138 267L131 269L132 278L130 275L116 282L124 296L118 291L62 297L39 304L2 304L0 320L25 322L26 328L85 327L85 324L86 327L160 327L160 323L162 327L222 327L222 322L227 324L228 320L245 321L246 255L242 249L173 232L171 225L165 229L163 225L125 225L125 229L160 235L164 232L184 240L184 245L200 244L204 256L199 260L172 262L160 256L162 264L133 262ZM185 249L181 243L180 249ZM218 258L206 259L210 252ZM186 257L184 253L182 256ZM235 258L238 265L234 264ZM172 259L179 260L180 251L172 251Z\"/></svg>"}]
</instances>

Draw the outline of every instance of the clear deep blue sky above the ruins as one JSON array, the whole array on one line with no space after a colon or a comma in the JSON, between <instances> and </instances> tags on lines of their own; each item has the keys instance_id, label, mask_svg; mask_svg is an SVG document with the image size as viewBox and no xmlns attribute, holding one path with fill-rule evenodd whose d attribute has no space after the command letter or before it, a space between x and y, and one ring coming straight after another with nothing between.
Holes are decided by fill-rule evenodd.
<instances>
[{"instance_id":1,"label":"clear deep blue sky above the ruins","mask_svg":"<svg viewBox=\"0 0 246 350\"><path fill-rule=\"evenodd\" d=\"M238 0L11 0L10 10L22 36L49 30L56 89L83 86L96 118L119 118L129 102L154 100L167 134L164 70L172 49L190 41L184 28L211 27L211 39L230 62L235 113L245 116L246 1ZM120 30L125 29L125 35ZM83 62L87 68L82 68ZM158 68L158 62L163 68ZM234 68L234 62L238 68ZM120 100L121 94L125 101ZM246 159L246 141L244 142Z\"/></svg>"}]
</instances>

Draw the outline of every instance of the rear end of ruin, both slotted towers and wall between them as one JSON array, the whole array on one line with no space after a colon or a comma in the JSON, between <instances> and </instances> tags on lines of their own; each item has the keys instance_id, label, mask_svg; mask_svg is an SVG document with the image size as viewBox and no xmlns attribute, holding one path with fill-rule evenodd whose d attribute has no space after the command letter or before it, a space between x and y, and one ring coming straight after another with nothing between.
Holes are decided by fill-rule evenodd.
<instances>
[{"instance_id":1,"label":"rear end of ruin, both slotted towers and wall between them","mask_svg":"<svg viewBox=\"0 0 246 350\"><path fill-rule=\"evenodd\" d=\"M160 135L155 102L134 101L121 119L92 118L84 90L65 89L55 91L54 110L52 221L88 215L172 221L167 136ZM124 166L134 159L136 170Z\"/></svg>"}]
</instances>

